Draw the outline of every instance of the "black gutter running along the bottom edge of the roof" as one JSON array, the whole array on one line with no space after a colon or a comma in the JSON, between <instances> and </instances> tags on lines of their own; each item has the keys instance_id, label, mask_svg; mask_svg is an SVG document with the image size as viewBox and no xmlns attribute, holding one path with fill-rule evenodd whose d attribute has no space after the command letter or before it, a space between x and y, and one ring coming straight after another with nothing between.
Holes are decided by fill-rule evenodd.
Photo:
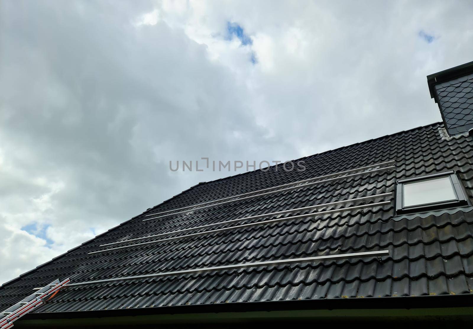
<instances>
[{"instance_id":1,"label":"black gutter running along the bottom edge of the roof","mask_svg":"<svg viewBox=\"0 0 473 329\"><path fill-rule=\"evenodd\" d=\"M383 310L473 307L473 293L399 297L332 298L268 302L233 302L96 311L28 313L24 320L83 319L140 315L298 310Z\"/></svg>"}]
</instances>

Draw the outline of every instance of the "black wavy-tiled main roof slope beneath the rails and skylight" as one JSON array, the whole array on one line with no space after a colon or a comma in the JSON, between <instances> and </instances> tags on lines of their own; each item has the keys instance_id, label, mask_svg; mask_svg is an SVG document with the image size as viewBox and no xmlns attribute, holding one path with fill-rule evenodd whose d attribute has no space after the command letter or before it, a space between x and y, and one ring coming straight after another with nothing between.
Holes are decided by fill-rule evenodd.
<instances>
[{"instance_id":1,"label":"black wavy-tiled main roof slope beneath the rails and skylight","mask_svg":"<svg viewBox=\"0 0 473 329\"><path fill-rule=\"evenodd\" d=\"M303 187L190 214L143 222L143 213L4 285L0 288L0 308L6 308L31 294L34 287L56 278L71 277L73 282L82 282L177 269L381 249L390 250L390 256L383 257L382 262L377 258L347 259L70 287L36 312L470 294L473 292L472 208L393 217L394 197L391 198L391 205L383 207L315 218L308 215L307 218L266 226L88 255L89 251L103 248L99 247L100 244L125 238L393 192L396 179L449 169L457 171L471 195L472 137L459 136L447 140L439 133L441 127L443 124L431 124L309 156L302 159L307 165L304 172L257 170L197 185L149 212L170 210L373 163L396 162L396 169L389 173L377 172Z\"/></svg>"}]
</instances>

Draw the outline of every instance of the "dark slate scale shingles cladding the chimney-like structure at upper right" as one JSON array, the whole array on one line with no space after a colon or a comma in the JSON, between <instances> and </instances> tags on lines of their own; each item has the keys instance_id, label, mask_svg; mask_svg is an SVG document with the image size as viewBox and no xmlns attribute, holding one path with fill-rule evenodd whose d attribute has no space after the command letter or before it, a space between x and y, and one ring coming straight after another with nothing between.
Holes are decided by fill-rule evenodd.
<instances>
[{"instance_id":1,"label":"dark slate scale shingles cladding the chimney-like structure at upper right","mask_svg":"<svg viewBox=\"0 0 473 329\"><path fill-rule=\"evenodd\" d=\"M473 74L439 83L435 90L448 133L473 128Z\"/></svg>"}]
</instances>

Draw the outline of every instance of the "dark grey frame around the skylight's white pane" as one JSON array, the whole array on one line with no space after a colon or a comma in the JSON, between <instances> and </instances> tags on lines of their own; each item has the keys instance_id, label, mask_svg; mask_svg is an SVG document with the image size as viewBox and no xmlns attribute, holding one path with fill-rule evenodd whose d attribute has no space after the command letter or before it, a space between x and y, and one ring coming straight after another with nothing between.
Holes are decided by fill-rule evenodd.
<instances>
[{"instance_id":1,"label":"dark grey frame around the skylight's white pane","mask_svg":"<svg viewBox=\"0 0 473 329\"><path fill-rule=\"evenodd\" d=\"M430 202L420 205L404 206L404 185L406 183L420 182L432 178L435 179L444 177L448 177L450 179L450 183L452 184L452 190L456 196L455 199ZM460 180L456 176L455 170L447 170L429 175L399 179L396 182L396 213L398 214L427 212L429 210L434 209L451 208L453 206L467 205L467 200L468 198L466 192L462 184L460 184Z\"/></svg>"}]
</instances>

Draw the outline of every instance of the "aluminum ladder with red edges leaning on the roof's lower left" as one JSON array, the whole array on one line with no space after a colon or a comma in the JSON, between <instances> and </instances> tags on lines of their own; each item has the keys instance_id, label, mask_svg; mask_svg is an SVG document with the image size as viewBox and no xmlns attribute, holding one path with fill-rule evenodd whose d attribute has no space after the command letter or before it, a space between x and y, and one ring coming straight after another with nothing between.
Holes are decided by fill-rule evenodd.
<instances>
[{"instance_id":1,"label":"aluminum ladder with red edges leaning on the roof's lower left","mask_svg":"<svg viewBox=\"0 0 473 329\"><path fill-rule=\"evenodd\" d=\"M34 310L36 307L43 305L48 296L51 295L50 298L52 298L63 286L67 285L69 282L69 278L62 282L59 280L54 280L49 285L40 288L37 292L29 295L22 301L1 312L0 329L8 329L13 327L13 321L18 320L20 317Z\"/></svg>"}]
</instances>

